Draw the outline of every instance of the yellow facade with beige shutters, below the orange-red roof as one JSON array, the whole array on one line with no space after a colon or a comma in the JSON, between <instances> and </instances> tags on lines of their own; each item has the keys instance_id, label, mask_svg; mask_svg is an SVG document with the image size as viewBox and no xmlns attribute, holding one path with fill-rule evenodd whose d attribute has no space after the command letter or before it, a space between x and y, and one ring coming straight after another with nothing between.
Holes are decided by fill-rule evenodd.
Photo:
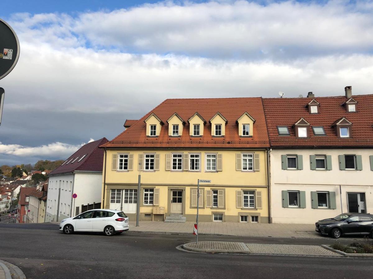
<instances>
[{"instance_id":1,"label":"yellow facade with beige shutters, below the orange-red roof","mask_svg":"<svg viewBox=\"0 0 373 279\"><path fill-rule=\"evenodd\" d=\"M224 125L224 123L222 124ZM163 220L162 215L153 216L154 208L159 207L164 208L166 217L176 212L186 217L186 221L195 221L197 180L204 179L211 180L211 183L200 183L200 221L214 221L214 214L216 214L215 218L222 217L221 221L223 222L239 222L241 215L247 216L243 218L244 221L268 222L266 152L265 149L107 150L104 158L104 167L106 160L106 170L104 170L106 174L103 176L103 208L110 208L110 206L116 207L112 209L121 208L128 214L131 221L135 221L136 214L133 211L128 213L123 208L123 199L127 199L125 195L128 195L124 191L125 189L130 192L135 191L138 185L138 175L141 174L141 221L151 221L153 218L157 221ZM119 170L119 154L128 156L127 169L132 170ZM154 154L154 168L159 170L144 170L146 154ZM179 154L182 158L182 169L172 170L173 154ZM191 154L199 154L198 171L189 170ZM253 170L242 170L242 160L244 160L242 154L245 155L245 158L246 154L249 154ZM207 155L213 155L216 158L217 170L209 171L207 169ZM142 162L141 169L138 167L139 161ZM148 191L145 189L154 192L153 205L144 205L144 192ZM112 190L113 192L118 190L119 194L117 195L121 195L119 203L112 203ZM179 200L173 197L178 191L178 194L181 195ZM119 198L117 199L119 201ZM156 201L156 199L159 200ZM173 200L182 202L181 204L180 202L171 202ZM247 203L248 201L250 204Z\"/></svg>"}]
</instances>

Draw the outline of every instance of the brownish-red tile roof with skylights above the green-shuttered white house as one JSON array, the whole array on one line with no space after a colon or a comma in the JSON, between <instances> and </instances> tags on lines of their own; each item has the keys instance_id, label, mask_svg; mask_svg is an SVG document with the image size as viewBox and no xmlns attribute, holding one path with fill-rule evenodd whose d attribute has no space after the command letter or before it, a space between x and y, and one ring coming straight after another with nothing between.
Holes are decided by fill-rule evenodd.
<instances>
[{"instance_id":1,"label":"brownish-red tile roof with skylights above the green-shuttered white house","mask_svg":"<svg viewBox=\"0 0 373 279\"><path fill-rule=\"evenodd\" d=\"M347 112L345 96L315 97L320 113L311 114L305 107L310 98L263 98L270 143L275 146L299 147L373 147L373 94L355 95L357 112ZM296 138L292 126L304 118L310 126L310 138ZM352 137L338 138L332 124L342 117L352 123ZM277 126L288 126L290 135L279 135ZM315 136L312 126L323 126L326 136Z\"/></svg>"}]
</instances>

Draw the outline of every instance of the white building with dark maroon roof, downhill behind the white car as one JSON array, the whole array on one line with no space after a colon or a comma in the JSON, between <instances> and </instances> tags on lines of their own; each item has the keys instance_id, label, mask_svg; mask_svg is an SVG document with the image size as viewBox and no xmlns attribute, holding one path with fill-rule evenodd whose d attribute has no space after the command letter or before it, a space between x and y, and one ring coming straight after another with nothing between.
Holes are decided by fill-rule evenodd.
<instances>
[{"instance_id":1,"label":"white building with dark maroon roof, downhill behind the white car","mask_svg":"<svg viewBox=\"0 0 373 279\"><path fill-rule=\"evenodd\" d=\"M107 141L102 138L85 144L48 174L46 222L101 208L104 151L98 147ZM75 199L72 197L74 193L77 195Z\"/></svg>"}]
</instances>

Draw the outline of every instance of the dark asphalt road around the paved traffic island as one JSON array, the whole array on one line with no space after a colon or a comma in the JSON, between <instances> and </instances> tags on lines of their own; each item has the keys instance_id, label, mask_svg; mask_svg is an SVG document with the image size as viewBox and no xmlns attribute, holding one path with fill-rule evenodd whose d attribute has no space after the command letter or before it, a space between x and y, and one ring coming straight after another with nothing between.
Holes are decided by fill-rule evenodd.
<instances>
[{"instance_id":1,"label":"dark asphalt road around the paved traffic island","mask_svg":"<svg viewBox=\"0 0 373 279\"><path fill-rule=\"evenodd\" d=\"M0 224L0 259L19 266L29 279L373 277L372 259L189 253L175 247L195 241L192 235L65 235L57 227ZM304 245L335 241L219 236L199 240Z\"/></svg>"}]
</instances>

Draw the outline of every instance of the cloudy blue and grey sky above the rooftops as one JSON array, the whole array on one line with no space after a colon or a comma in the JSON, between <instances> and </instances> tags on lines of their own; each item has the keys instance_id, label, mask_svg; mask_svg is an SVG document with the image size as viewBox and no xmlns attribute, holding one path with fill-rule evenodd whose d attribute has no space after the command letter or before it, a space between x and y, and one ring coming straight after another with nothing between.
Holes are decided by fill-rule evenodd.
<instances>
[{"instance_id":1,"label":"cloudy blue and grey sky above the rooftops","mask_svg":"<svg viewBox=\"0 0 373 279\"><path fill-rule=\"evenodd\" d=\"M28 1L0 165L69 157L167 98L372 93L373 1Z\"/></svg>"}]
</instances>

